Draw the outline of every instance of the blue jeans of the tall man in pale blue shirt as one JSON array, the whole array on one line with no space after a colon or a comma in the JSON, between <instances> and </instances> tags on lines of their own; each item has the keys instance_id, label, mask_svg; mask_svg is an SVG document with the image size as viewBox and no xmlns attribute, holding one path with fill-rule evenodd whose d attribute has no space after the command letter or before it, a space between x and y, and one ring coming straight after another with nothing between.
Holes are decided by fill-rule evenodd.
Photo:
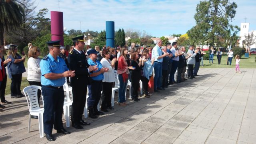
<instances>
[{"instance_id":1,"label":"blue jeans of the tall man in pale blue shirt","mask_svg":"<svg viewBox=\"0 0 256 144\"><path fill-rule=\"evenodd\" d=\"M154 77L154 90L161 87L161 76L162 76L162 63L154 62L153 64L155 77Z\"/></svg>"}]
</instances>

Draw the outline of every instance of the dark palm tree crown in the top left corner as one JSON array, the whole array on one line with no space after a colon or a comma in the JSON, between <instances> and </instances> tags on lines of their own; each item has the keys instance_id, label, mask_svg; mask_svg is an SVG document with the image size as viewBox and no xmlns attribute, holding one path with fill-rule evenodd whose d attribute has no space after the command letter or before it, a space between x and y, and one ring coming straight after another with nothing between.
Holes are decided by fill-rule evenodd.
<instances>
[{"instance_id":1,"label":"dark palm tree crown in the top left corner","mask_svg":"<svg viewBox=\"0 0 256 144\"><path fill-rule=\"evenodd\" d=\"M14 0L0 0L0 45L4 45L4 31L14 31L22 24L23 12Z\"/></svg>"}]
</instances>

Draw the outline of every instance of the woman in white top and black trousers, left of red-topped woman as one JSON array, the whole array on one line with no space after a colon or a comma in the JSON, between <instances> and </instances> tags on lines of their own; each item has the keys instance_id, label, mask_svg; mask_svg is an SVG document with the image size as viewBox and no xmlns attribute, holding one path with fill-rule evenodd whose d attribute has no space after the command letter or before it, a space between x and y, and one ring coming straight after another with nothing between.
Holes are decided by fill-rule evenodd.
<instances>
[{"instance_id":1,"label":"woman in white top and black trousers, left of red-topped woman","mask_svg":"<svg viewBox=\"0 0 256 144\"><path fill-rule=\"evenodd\" d=\"M112 85L115 81L114 69L116 58L113 58L113 60L110 61L110 52L107 49L103 49L101 54L103 58L100 63L102 64L103 68L108 68L108 72L103 73L104 79L102 80L101 110L103 112L108 112L107 108L109 108L110 110L114 110L114 108L111 106L111 95Z\"/></svg>"}]
</instances>

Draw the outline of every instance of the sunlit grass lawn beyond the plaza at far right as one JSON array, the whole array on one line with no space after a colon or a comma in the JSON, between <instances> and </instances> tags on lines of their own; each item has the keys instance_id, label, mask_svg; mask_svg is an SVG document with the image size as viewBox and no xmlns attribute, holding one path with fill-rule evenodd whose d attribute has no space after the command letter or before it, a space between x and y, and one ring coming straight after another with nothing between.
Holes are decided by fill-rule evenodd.
<instances>
[{"instance_id":1,"label":"sunlit grass lawn beyond the plaza at far right","mask_svg":"<svg viewBox=\"0 0 256 144\"><path fill-rule=\"evenodd\" d=\"M242 56L239 62L240 68L256 68L255 57L256 57L256 54L251 54L249 58L244 58L244 56ZM220 64L218 64L217 56L214 55L213 64L212 63L209 64L209 60L204 60L204 66L203 67L200 66L200 68L236 68L235 58L232 59L231 66L227 65L227 59L228 59L227 55L222 56L221 62Z\"/></svg>"}]
</instances>

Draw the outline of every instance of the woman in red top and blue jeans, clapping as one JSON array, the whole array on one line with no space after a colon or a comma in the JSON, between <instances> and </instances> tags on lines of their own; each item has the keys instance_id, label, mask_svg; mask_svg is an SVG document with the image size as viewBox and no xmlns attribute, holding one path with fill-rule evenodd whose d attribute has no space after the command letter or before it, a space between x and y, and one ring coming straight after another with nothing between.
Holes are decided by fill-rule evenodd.
<instances>
[{"instance_id":1,"label":"woman in red top and blue jeans, clapping","mask_svg":"<svg viewBox=\"0 0 256 144\"><path fill-rule=\"evenodd\" d=\"M118 90L118 103L121 106L126 106L125 103L125 91L128 82L129 69L134 70L130 66L130 58L127 56L128 49L123 46L121 49L121 56L118 59L117 74L119 79L119 90Z\"/></svg>"}]
</instances>

